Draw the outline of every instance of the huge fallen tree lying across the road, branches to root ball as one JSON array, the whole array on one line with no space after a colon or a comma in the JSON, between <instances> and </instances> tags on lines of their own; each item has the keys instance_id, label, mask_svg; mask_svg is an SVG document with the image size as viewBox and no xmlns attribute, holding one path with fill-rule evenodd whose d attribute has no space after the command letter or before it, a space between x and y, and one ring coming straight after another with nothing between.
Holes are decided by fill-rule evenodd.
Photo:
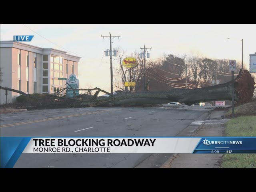
<instances>
[{"instance_id":1,"label":"huge fallen tree lying across the road, branches to root ball","mask_svg":"<svg viewBox=\"0 0 256 192\"><path fill-rule=\"evenodd\" d=\"M248 70L240 69L237 78L234 80L234 95L236 102L243 104L250 102L254 92L254 79L248 72ZM3 88L5 90L11 90L10 88ZM167 91L155 92L135 92L135 93L123 93L117 95L111 95L110 93L100 88L94 89L70 89L64 88L58 92L64 90L83 90L92 91L97 90L94 96L88 99L80 100L78 98L60 97L51 94L41 94L42 96L33 96L33 94L25 94L17 90L11 90L23 94L23 97L27 98L27 102L33 102L39 107L83 107L83 106L144 106L151 104L162 104L168 102L180 102L187 105L192 105L198 102L206 102L213 100L231 100L232 95L232 82L219 84L216 86L209 86L196 89L172 89ZM104 92L110 97L98 97L99 92ZM43 96L44 95L44 96ZM45 96L46 95L46 96Z\"/></svg>"}]
</instances>

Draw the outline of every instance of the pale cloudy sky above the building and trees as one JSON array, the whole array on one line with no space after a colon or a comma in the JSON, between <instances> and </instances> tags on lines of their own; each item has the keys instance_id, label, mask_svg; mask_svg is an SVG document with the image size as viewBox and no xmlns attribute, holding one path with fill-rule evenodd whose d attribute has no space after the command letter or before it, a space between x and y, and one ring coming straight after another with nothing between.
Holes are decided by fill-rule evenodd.
<instances>
[{"instance_id":1,"label":"pale cloudy sky above the building and trees","mask_svg":"<svg viewBox=\"0 0 256 192\"><path fill-rule=\"evenodd\" d=\"M82 57L78 64L80 88L99 87L110 92L110 57L104 51L118 46L126 55L152 47L150 59L163 54L200 53L207 58L227 58L241 62L244 40L244 68L249 54L256 52L256 24L1 24L0 39L14 35L34 35L31 42L42 48L54 48ZM34 32L33 32L34 31ZM40 35L38 35L40 34ZM226 40L226 38L230 38ZM61 48L62 47L62 48ZM63 49L64 48L64 49ZM65 50L66 49L66 50ZM68 51L67 51L68 50ZM113 57L113 67L118 67ZM115 89L114 89L115 90Z\"/></svg>"}]
</instances>

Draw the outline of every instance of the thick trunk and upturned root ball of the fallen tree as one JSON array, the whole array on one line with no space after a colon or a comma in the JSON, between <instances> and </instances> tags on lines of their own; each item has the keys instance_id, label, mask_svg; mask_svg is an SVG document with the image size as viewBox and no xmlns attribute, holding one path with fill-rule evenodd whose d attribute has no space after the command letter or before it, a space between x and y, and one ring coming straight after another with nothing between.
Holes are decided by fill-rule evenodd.
<instances>
[{"instance_id":1,"label":"thick trunk and upturned root ball of the fallen tree","mask_svg":"<svg viewBox=\"0 0 256 192\"><path fill-rule=\"evenodd\" d=\"M240 69L234 80L234 99L240 103L252 100L254 92L254 79L248 70ZM192 105L199 102L214 100L231 100L232 82L196 89L172 89L165 92L139 92L125 94L113 102L113 105L142 105L164 102L180 102Z\"/></svg>"}]
</instances>

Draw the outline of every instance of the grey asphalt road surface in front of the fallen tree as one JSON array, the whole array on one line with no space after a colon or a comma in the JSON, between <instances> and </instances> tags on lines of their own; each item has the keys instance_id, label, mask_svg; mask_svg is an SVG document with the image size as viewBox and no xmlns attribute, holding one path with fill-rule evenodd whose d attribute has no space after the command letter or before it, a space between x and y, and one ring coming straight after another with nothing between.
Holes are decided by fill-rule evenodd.
<instances>
[{"instance_id":1,"label":"grey asphalt road surface in front of the fallen tree","mask_svg":"<svg viewBox=\"0 0 256 192\"><path fill-rule=\"evenodd\" d=\"M1 136L176 136L206 107L75 108L1 114ZM14 167L134 167L150 154L22 154Z\"/></svg>"}]
</instances>

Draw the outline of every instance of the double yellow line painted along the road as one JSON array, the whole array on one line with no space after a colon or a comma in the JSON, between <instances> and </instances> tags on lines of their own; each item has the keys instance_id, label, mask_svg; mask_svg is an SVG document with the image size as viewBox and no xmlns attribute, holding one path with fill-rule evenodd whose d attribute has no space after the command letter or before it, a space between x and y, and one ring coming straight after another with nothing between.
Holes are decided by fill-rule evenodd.
<instances>
[{"instance_id":1,"label":"double yellow line painted along the road","mask_svg":"<svg viewBox=\"0 0 256 192\"><path fill-rule=\"evenodd\" d=\"M24 125L24 124L29 124L29 123L37 123L37 122L43 122L43 121L50 121L50 120L56 120L56 119L63 119L63 118L68 118L68 117L82 116L82 115L88 115L88 114L95 114L95 113L100 113L100 112L110 112L110 111L115 111L115 110L122 110L122 109L105 110L105 111L98 111L98 112L82 113L82 114L68 115L68 116L62 116L62 117L53 117L53 118L40 119L40 120L34 120L34 121L13 123L13 124L0 126L0 128L16 126L16 125Z\"/></svg>"}]
</instances>

